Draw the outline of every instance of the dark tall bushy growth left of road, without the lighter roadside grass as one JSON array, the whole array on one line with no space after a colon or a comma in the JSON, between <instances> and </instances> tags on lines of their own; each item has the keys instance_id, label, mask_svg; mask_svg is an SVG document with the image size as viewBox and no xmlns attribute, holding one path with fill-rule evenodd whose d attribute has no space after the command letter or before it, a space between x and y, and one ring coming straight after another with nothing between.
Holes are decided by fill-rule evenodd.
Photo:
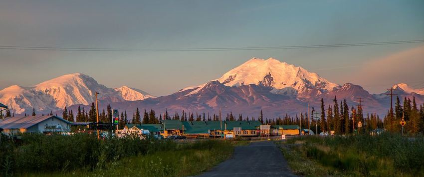
<instances>
[{"instance_id":1,"label":"dark tall bushy growth left of road, without the lighter roadside grass","mask_svg":"<svg viewBox=\"0 0 424 177\"><path fill-rule=\"evenodd\" d=\"M98 140L96 136L23 134L18 142L0 144L0 176L19 172L66 172L102 169L124 157L177 149L172 141L138 137Z\"/></svg>"}]
</instances>

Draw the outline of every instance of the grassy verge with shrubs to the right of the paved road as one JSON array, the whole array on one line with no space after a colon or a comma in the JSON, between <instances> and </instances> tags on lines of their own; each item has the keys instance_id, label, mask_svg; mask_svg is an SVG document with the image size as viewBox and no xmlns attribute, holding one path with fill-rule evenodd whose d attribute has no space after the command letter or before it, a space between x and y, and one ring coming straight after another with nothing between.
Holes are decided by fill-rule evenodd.
<instances>
[{"instance_id":1,"label":"grassy verge with shrubs to the right of the paved road","mask_svg":"<svg viewBox=\"0 0 424 177\"><path fill-rule=\"evenodd\" d=\"M281 144L303 176L424 176L424 139L399 135L314 136Z\"/></svg>"}]
</instances>

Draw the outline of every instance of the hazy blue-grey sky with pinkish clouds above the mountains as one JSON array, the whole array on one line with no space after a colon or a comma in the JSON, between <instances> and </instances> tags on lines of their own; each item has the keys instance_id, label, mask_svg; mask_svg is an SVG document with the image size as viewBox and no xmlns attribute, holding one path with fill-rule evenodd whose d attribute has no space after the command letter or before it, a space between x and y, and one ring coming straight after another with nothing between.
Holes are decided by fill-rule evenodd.
<instances>
[{"instance_id":1,"label":"hazy blue-grey sky with pinkish clouds above the mountains","mask_svg":"<svg viewBox=\"0 0 424 177\"><path fill-rule=\"evenodd\" d=\"M1 0L0 45L223 48L424 39L423 0ZM84 73L161 96L273 57L371 93L424 87L424 43L244 51L0 49L0 89Z\"/></svg>"}]
</instances>

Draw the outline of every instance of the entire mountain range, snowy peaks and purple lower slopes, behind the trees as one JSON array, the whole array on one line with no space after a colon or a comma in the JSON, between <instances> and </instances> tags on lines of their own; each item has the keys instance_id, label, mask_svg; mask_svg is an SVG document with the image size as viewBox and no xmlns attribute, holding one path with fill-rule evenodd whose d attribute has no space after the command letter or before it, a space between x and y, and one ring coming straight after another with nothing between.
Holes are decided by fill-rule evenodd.
<instances>
[{"instance_id":1,"label":"entire mountain range, snowy peaks and purple lower slopes, behind the trees","mask_svg":"<svg viewBox=\"0 0 424 177\"><path fill-rule=\"evenodd\" d=\"M413 89L400 83L393 87L394 93L402 97L415 96L418 103L424 101L424 89ZM326 108L346 99L349 106L356 106L361 98L364 112L385 114L390 107L390 96L370 94L359 85L346 83L338 85L309 72L274 58L252 58L231 69L222 77L199 86L181 89L174 94L154 97L142 90L122 86L107 88L93 78L80 74L63 75L32 87L13 85L0 91L0 102L8 105L16 114L37 112L60 112L65 106L76 110L76 105L88 105L99 92L100 108L111 104L112 108L132 112L140 109L154 109L157 113L168 110L181 114L186 112L234 115L259 115L272 118L285 114L306 112L308 102L319 110L319 101L324 98ZM73 105L73 106L72 106ZM131 116L130 116L131 117Z\"/></svg>"}]
</instances>

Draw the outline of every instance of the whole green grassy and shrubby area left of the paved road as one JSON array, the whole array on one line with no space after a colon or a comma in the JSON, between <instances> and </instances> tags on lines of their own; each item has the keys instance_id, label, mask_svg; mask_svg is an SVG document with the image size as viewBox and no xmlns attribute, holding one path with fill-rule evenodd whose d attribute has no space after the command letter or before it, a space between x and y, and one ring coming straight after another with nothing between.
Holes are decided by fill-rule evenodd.
<instances>
[{"instance_id":1,"label":"whole green grassy and shrubby area left of the paved road","mask_svg":"<svg viewBox=\"0 0 424 177\"><path fill-rule=\"evenodd\" d=\"M229 158L233 146L221 140L24 135L19 142L1 142L0 176L197 175Z\"/></svg>"}]
</instances>

